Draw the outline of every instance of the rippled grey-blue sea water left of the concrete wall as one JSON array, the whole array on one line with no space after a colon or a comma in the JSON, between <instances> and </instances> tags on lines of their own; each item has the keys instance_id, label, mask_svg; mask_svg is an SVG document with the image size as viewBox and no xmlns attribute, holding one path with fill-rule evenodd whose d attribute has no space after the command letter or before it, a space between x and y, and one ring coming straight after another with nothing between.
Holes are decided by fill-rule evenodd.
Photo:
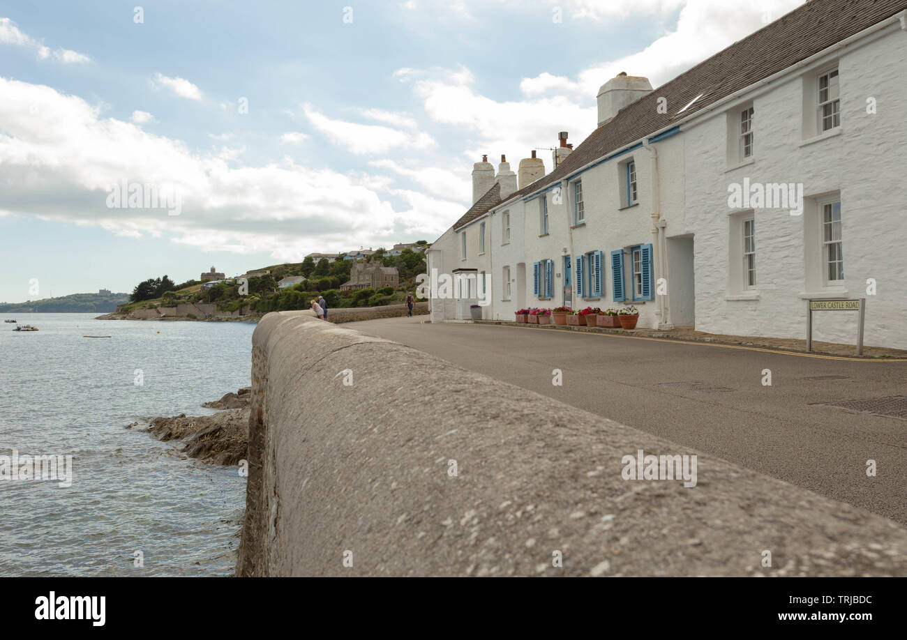
<instances>
[{"instance_id":1,"label":"rippled grey-blue sea water left of the concrete wall","mask_svg":"<svg viewBox=\"0 0 907 640\"><path fill-rule=\"evenodd\" d=\"M248 386L254 325L94 315L0 318L39 329L0 323L0 455L73 456L68 488L0 480L0 576L232 575L238 469L123 426L207 414L201 402Z\"/></svg>"}]
</instances>

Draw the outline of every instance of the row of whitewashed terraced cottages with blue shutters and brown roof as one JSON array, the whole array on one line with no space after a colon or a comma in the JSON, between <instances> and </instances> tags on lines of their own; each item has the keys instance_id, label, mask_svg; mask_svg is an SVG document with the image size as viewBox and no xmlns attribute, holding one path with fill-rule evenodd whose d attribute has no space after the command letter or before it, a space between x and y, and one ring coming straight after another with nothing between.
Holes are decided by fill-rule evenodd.
<instances>
[{"instance_id":1,"label":"row of whitewashed terraced cottages with blue shutters and brown roof","mask_svg":"<svg viewBox=\"0 0 907 640\"><path fill-rule=\"evenodd\" d=\"M654 91L620 73L548 174L522 160L511 189L503 160L475 164L429 273L490 273L489 318L636 305L640 327L787 338L807 299L866 297L866 344L907 348L905 68L907 0L813 0ZM465 286L433 321L479 297ZM855 325L817 315L814 336L853 343Z\"/></svg>"}]
</instances>

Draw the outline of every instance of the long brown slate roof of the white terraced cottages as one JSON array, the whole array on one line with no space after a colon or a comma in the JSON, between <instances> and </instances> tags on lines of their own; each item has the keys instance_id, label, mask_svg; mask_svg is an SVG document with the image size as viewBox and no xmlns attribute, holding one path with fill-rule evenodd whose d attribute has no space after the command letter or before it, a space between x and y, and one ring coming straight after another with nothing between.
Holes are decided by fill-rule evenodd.
<instances>
[{"instance_id":1,"label":"long brown slate roof of the white terraced cottages","mask_svg":"<svg viewBox=\"0 0 907 640\"><path fill-rule=\"evenodd\" d=\"M593 131L561 165L546 176L515 191L507 200L519 199L569 176L584 165L645 138L655 131L705 109L731 93L759 82L787 67L857 34L885 18L907 9L907 0L812 0L746 36L658 89L629 104L618 115ZM842 79L846 82L846 78ZM687 111L679 113L702 94ZM658 113L658 98L668 101L668 113ZM489 193L486 193L487 197ZM473 205L453 228L463 226L479 213L483 199Z\"/></svg>"}]
</instances>

